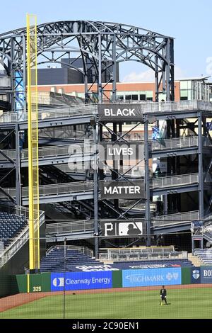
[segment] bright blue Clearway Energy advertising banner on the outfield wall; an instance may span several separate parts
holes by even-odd
[[[52,273],[51,290],[112,288],[112,271]]]

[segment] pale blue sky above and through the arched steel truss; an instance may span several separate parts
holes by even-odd
[[[0,33],[25,26],[26,13],[37,24],[52,21],[111,21],[175,38],[175,77],[212,76],[211,0],[11,0],[1,3]],[[121,81],[151,81],[153,71],[125,62]],[[212,81],[212,78],[210,79]]]

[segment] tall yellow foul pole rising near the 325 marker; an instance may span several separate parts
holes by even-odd
[[[30,270],[40,268],[39,169],[37,124],[37,17],[27,15],[28,179]],[[33,86],[33,92],[32,92]]]

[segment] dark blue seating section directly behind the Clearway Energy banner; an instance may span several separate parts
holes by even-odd
[[[77,249],[66,249],[66,271],[75,271],[74,266],[102,265],[90,256],[86,256]],[[40,261],[40,272],[62,272],[64,271],[64,249],[54,247]]]

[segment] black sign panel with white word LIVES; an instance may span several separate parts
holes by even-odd
[[[144,159],[144,145],[140,142],[100,142],[98,150],[100,161]]]

